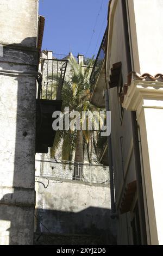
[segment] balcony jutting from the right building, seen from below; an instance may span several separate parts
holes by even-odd
[[[90,82],[92,84],[92,94],[90,102],[98,107],[105,108],[105,101],[103,92],[105,86],[105,56],[106,56],[106,42],[107,42],[107,29],[103,36],[101,46],[99,48],[95,64],[93,66]]]

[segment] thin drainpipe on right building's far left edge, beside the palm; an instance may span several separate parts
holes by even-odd
[[[108,90],[105,90],[105,107],[106,111],[109,110],[109,95]],[[107,137],[108,139],[108,157],[109,157],[109,175],[110,175],[110,197],[111,197],[111,218],[117,217],[115,208],[115,196],[114,196],[114,173],[112,163],[112,147],[111,147],[111,134]]]

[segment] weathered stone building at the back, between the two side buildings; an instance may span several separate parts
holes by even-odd
[[[42,51],[40,71],[44,97],[46,88],[52,92],[56,86],[53,76],[59,76],[63,63],[69,58],[75,58],[85,67],[85,58],[80,54],[74,57],[72,53],[62,56]],[[65,80],[71,76],[71,64],[67,62]],[[50,98],[55,95],[53,92]],[[109,167],[99,164],[95,153],[92,164],[86,154],[83,163],[62,161],[61,151],[59,148],[55,159],[51,159],[50,148],[48,153],[35,157],[35,244],[116,244],[116,220],[110,218]]]

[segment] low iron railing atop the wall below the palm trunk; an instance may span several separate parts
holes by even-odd
[[[36,160],[36,162],[40,162],[40,176],[83,181],[89,182],[89,184],[109,184],[109,167],[102,164],[57,161],[54,159]]]

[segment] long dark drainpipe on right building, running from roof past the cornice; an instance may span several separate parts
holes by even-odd
[[[129,44],[129,32],[128,32],[129,28],[128,28],[128,21],[127,21],[126,1],[122,1],[122,12],[123,12],[123,22],[124,22],[124,34],[125,34],[125,40],[126,40],[127,67],[128,67],[128,74],[129,74],[129,72],[132,71],[132,65],[131,65],[131,52],[130,52],[130,44]],[[142,242],[142,245],[147,245],[145,206],[144,206],[144,199],[143,199],[143,186],[142,186],[141,161],[140,161],[140,149],[139,149],[139,136],[138,136],[138,129],[137,129],[138,125],[137,125],[135,111],[131,111],[131,122],[132,122],[132,129],[133,129],[133,144],[134,144],[135,169],[136,169],[137,194],[138,194],[137,201],[139,205],[141,242]]]

